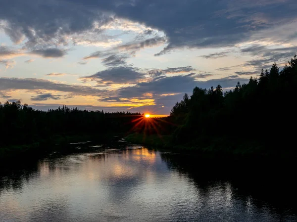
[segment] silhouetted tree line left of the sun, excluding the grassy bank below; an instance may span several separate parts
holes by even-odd
[[[67,106],[35,110],[20,101],[0,103],[1,143],[23,145],[48,140],[56,135],[120,133],[131,129],[141,113],[79,110]]]

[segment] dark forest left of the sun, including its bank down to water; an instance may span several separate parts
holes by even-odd
[[[140,113],[70,109],[34,110],[20,101],[0,104],[0,159],[31,153],[38,155],[50,146],[69,142],[106,142],[124,135]],[[62,146],[61,146],[62,147]],[[65,147],[67,148],[67,147]]]

